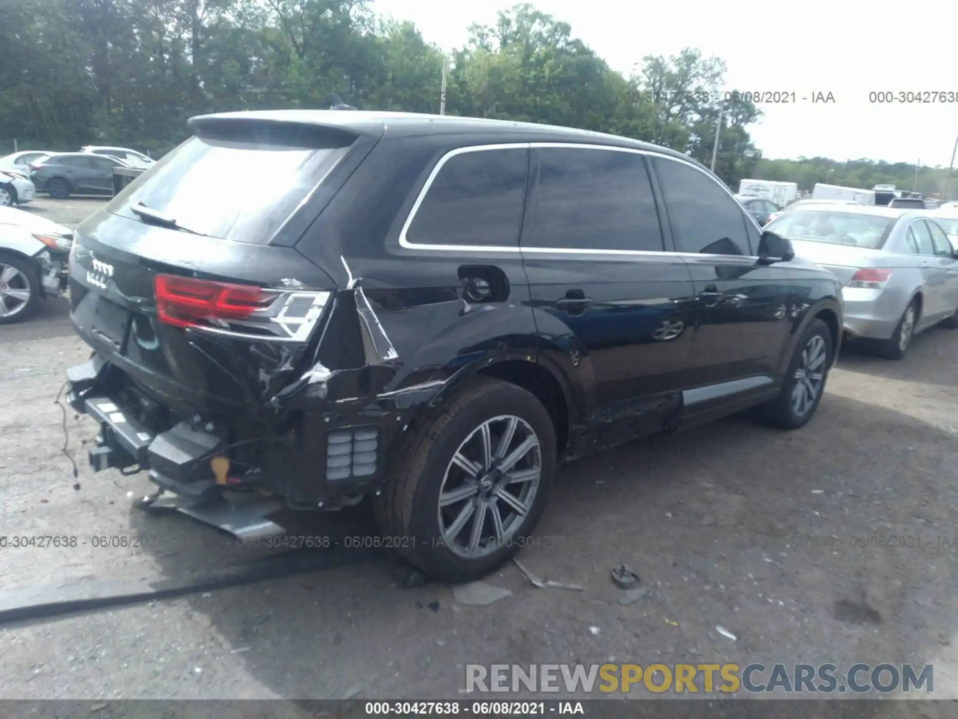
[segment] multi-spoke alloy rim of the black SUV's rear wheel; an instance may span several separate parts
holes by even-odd
[[[536,431],[514,415],[473,429],[452,455],[439,490],[445,546],[477,559],[509,545],[532,510],[542,478]]]

